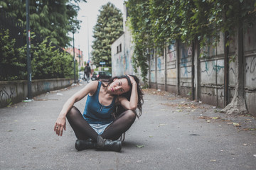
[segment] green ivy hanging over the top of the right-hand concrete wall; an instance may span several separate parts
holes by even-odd
[[[255,6],[256,0],[128,0],[134,67],[141,68],[146,80],[150,49],[162,51],[173,40],[199,42],[205,56],[203,47],[217,45],[220,31],[231,36],[239,26],[252,26]]]

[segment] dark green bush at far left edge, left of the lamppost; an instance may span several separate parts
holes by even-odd
[[[26,56],[19,55],[15,40],[10,38],[9,30],[0,30],[0,80],[9,81],[26,77]]]

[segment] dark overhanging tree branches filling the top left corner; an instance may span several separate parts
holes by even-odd
[[[30,0],[31,31],[49,40],[56,45],[65,47],[69,45],[69,32],[80,28],[76,19],[78,16],[78,2],[85,0]],[[9,16],[26,24],[26,0],[0,1],[0,7]]]

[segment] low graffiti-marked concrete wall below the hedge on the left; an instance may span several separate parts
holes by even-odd
[[[73,79],[41,79],[32,80],[32,96],[48,91],[63,89],[73,84]],[[28,96],[27,81],[0,81],[0,108],[9,103],[18,103]]]

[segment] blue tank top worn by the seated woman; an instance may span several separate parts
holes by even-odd
[[[111,123],[114,120],[112,113],[116,108],[115,99],[117,98],[117,96],[114,96],[113,101],[109,106],[103,106],[102,104],[100,104],[99,94],[101,84],[102,82],[99,81],[97,91],[95,91],[95,94],[93,94],[93,96],[87,95],[85,111],[82,114],[87,123],[105,125],[107,123]]]

